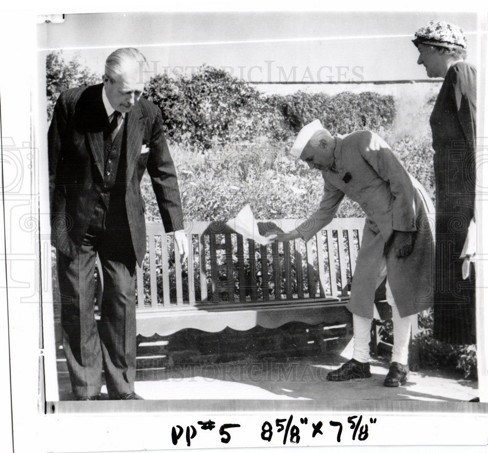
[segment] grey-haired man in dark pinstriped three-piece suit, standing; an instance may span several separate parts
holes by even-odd
[[[48,133],[51,230],[61,325],[77,400],[142,399],[136,373],[135,266],[146,251],[140,182],[147,168],[166,232],[188,250],[175,168],[160,109],[142,98],[147,62],[134,48],[106,59],[99,85],[61,93]],[[94,318],[95,260],[103,275]]]

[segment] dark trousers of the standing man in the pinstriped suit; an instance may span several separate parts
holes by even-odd
[[[102,263],[101,319],[95,320],[95,265]],[[57,256],[62,344],[75,396],[134,391],[136,374],[135,265],[123,195],[97,203],[74,259]]]

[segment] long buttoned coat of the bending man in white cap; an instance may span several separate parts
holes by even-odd
[[[322,172],[324,196],[319,209],[297,230],[312,238],[334,217],[345,195],[366,214],[362,244],[352,278],[348,309],[372,317],[378,275],[386,259],[391,292],[402,317],[432,305],[433,205],[422,185],[378,135],[357,131],[338,136],[336,171]],[[347,182],[346,182],[347,181]],[[414,246],[405,258],[391,250],[393,232],[412,232]]]

